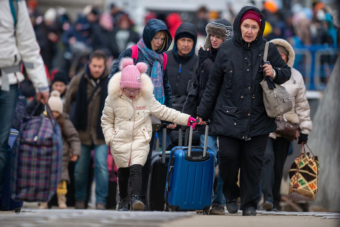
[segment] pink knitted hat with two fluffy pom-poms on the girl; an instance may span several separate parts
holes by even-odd
[[[148,65],[144,62],[133,64],[132,58],[123,58],[119,65],[122,75],[120,78],[120,87],[123,88],[142,88],[142,73],[148,70]]]

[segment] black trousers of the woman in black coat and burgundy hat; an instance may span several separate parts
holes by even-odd
[[[252,136],[245,141],[229,136],[218,136],[219,170],[226,200],[241,197],[241,210],[257,209],[260,197],[260,175],[269,134]],[[237,185],[240,169],[240,187]]]

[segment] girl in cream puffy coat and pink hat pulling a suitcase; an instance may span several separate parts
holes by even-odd
[[[144,210],[140,200],[142,166],[147,160],[152,135],[151,114],[161,120],[190,126],[195,119],[160,104],[154,86],[145,74],[148,66],[124,58],[120,70],[108,83],[108,96],[101,117],[105,142],[118,167],[118,211],[128,210],[128,182],[131,179],[131,208]],[[193,127],[196,123],[193,123]]]

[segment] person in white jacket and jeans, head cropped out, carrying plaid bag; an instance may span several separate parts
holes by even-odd
[[[49,98],[40,48],[36,41],[26,1],[0,1],[0,187],[8,155],[8,134],[19,96],[20,82],[24,80],[21,62],[33,82],[37,100],[43,104]],[[1,197],[2,188],[0,188]]]

